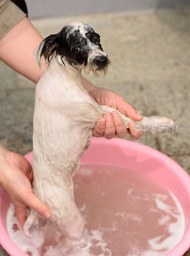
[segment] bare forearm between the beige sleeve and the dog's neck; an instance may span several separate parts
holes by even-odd
[[[0,40],[0,59],[37,83],[44,71],[33,60],[33,51],[42,40],[43,37],[25,17]]]

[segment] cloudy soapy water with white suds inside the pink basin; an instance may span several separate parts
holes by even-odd
[[[139,172],[85,164],[74,177],[75,202],[85,220],[81,241],[70,241],[42,220],[31,237],[11,204],[7,232],[29,256],[164,256],[182,239],[183,210],[170,190]]]

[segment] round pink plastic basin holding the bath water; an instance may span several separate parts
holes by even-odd
[[[32,152],[25,156],[32,162]],[[92,138],[81,163],[109,163],[137,170],[168,187],[178,198],[185,215],[185,234],[167,256],[181,256],[190,247],[190,177],[176,162],[161,152],[129,140]],[[27,256],[6,232],[6,214],[10,200],[0,187],[0,244],[11,256]]]

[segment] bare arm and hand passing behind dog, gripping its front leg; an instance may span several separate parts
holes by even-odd
[[[46,66],[42,67],[43,70],[39,69],[33,60],[33,51],[42,41],[43,37],[25,17],[0,40],[0,59],[21,75],[37,83]],[[96,87],[85,78],[82,78],[82,84],[99,104],[116,107],[133,120],[143,118],[117,93]],[[123,138],[129,132],[133,139],[138,140],[142,136],[142,132],[135,132],[134,125],[135,123],[131,122],[129,130],[127,130],[120,116],[115,118],[114,113],[108,113],[96,124],[93,136],[104,136],[111,139],[116,134]]]

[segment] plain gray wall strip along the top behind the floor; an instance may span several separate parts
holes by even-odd
[[[190,0],[25,0],[29,18],[190,6]]]

